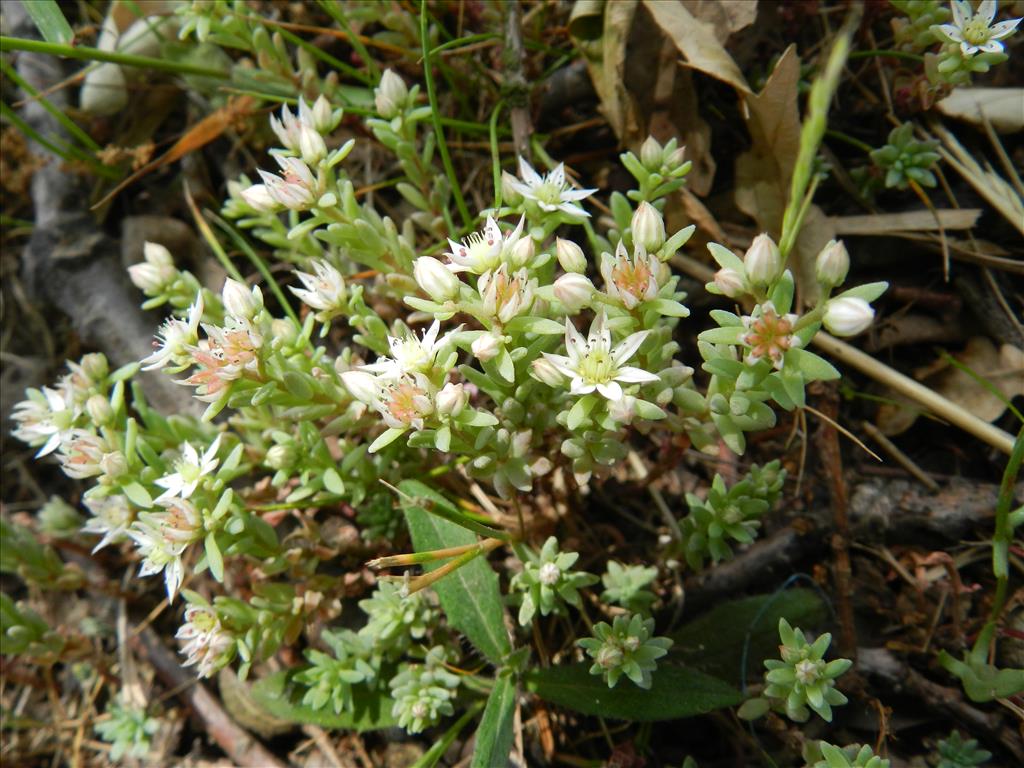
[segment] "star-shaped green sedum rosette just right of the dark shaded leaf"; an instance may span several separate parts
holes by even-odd
[[[771,709],[803,723],[813,711],[822,720],[831,722],[831,708],[847,702],[846,696],[836,690],[836,679],[853,663],[848,658],[824,660],[831,643],[828,633],[809,643],[802,630],[780,618],[778,634],[782,640],[781,658],[765,660],[764,691],[743,705],[740,716],[753,719]]]

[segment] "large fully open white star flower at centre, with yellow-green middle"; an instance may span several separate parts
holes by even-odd
[[[565,350],[568,355],[544,352],[545,358],[571,380],[571,394],[590,394],[596,389],[609,400],[617,400],[623,396],[621,383],[642,384],[658,380],[652,373],[623,365],[636,353],[649,332],[631,334],[612,348],[611,332],[605,327],[606,322],[604,312],[598,314],[590,327],[590,334],[584,339],[566,317]]]

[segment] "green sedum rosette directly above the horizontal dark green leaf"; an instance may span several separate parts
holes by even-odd
[[[623,675],[641,688],[649,688],[656,659],[672,646],[670,638],[651,637],[653,632],[653,618],[634,613],[615,616],[610,626],[605,622],[596,624],[594,636],[578,644],[594,659],[590,674],[603,677],[609,688],[614,688]]]

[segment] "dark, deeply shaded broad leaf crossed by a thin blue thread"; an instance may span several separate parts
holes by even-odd
[[[810,628],[824,621],[825,608],[807,589],[732,600],[674,632],[670,654],[687,667],[739,684],[746,675],[760,675],[764,659],[777,653],[779,618]],[[740,667],[748,637],[744,674]]]

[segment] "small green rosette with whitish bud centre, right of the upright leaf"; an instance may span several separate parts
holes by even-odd
[[[549,537],[540,553],[527,552],[523,568],[512,577],[511,590],[519,596],[519,624],[527,626],[534,615],[564,611],[564,604],[580,606],[580,590],[597,581],[586,571],[573,571],[578,552],[559,552],[558,540]]]

